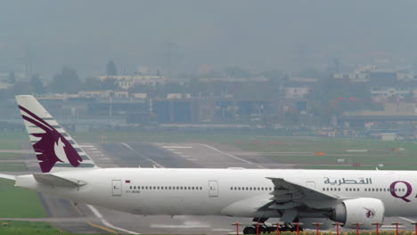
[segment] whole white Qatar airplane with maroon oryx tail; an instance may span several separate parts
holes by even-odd
[[[297,222],[371,229],[386,216],[417,215],[415,171],[100,168],[33,96],[16,101],[42,170],[0,174],[17,187],[139,215],[280,218],[282,231]]]

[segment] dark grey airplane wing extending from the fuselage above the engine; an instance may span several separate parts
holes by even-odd
[[[266,205],[269,209],[294,209],[296,207],[310,207],[322,209],[331,207],[338,201],[338,197],[324,193],[315,189],[308,188],[297,182],[290,182],[282,178],[267,179],[274,182],[274,191],[271,192],[274,197],[272,202]]]

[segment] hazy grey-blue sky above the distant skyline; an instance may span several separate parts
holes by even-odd
[[[0,71],[19,70],[30,46],[35,72],[68,65],[104,71],[241,66],[321,68],[417,61],[417,1],[2,1]],[[170,48],[170,50],[169,50]],[[168,52],[171,53],[168,53]]]

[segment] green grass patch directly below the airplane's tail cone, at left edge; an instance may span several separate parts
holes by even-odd
[[[41,218],[46,212],[37,193],[13,186],[14,182],[0,180],[0,217]],[[0,234],[3,234],[0,232]]]

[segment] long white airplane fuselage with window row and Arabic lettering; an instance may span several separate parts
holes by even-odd
[[[279,212],[258,211],[272,198],[274,183],[267,179],[272,177],[339,199],[380,199],[385,216],[417,214],[413,171],[105,168],[53,174],[86,184],[50,186],[30,174],[18,176],[16,185],[140,215],[280,217]]]

